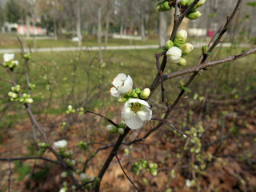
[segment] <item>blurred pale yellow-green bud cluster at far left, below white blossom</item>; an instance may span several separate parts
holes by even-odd
[[[21,91],[21,86],[16,85],[11,87],[11,91],[8,93],[11,102],[22,102],[22,103],[32,103],[33,99],[30,98],[30,94],[19,94]]]

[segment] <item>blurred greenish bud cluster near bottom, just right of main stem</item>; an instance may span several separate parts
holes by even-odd
[[[150,174],[153,176],[157,176],[158,174],[158,164],[157,163],[148,163],[145,159],[142,159],[138,162],[134,162],[134,164],[131,166],[131,172],[138,175],[139,172],[142,170],[142,168],[145,168]]]

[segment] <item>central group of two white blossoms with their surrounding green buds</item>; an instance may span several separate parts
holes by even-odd
[[[110,87],[110,94],[118,98],[118,102],[125,102],[122,110],[122,118],[125,119],[126,125],[130,129],[138,129],[143,126],[144,122],[152,118],[152,111],[145,99],[150,97],[150,89],[140,90],[133,89],[133,80],[130,75],[118,74],[113,81],[113,86]],[[110,133],[117,133],[119,127],[108,126],[107,130]],[[123,134],[120,130],[119,134]]]

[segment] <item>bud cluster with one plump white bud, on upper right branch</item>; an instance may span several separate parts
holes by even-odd
[[[175,63],[179,66],[186,65],[185,55],[190,54],[194,50],[194,46],[189,42],[186,42],[187,32],[186,30],[180,30],[174,38],[174,42],[168,40],[166,45],[162,47],[166,51],[167,62]]]

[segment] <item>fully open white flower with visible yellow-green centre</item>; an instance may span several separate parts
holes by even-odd
[[[143,122],[152,118],[152,111],[146,101],[130,98],[122,110],[122,118],[125,119],[130,129],[136,130],[143,126]]]

